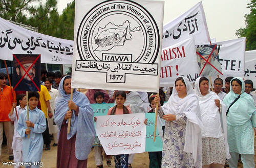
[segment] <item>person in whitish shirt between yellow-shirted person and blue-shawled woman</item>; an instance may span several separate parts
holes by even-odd
[[[50,106],[51,106],[52,114],[54,115],[55,99],[57,97],[58,90],[52,88],[52,82],[53,82],[52,78],[46,78],[45,86],[47,87],[51,96]],[[53,147],[55,147],[57,146],[57,143],[58,143],[58,126],[54,124],[53,117],[52,118],[48,117],[48,126],[49,126],[49,133],[53,134],[53,140],[54,140]]]

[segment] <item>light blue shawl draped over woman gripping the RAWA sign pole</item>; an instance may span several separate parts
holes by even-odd
[[[61,129],[61,125],[65,114],[69,111],[68,101],[70,94],[66,94],[63,89],[63,82],[68,76],[61,79],[59,83],[59,93],[61,97],[56,98],[56,109],[54,121]],[[70,133],[67,134],[67,139],[70,139],[76,134],[75,154],[79,160],[87,159],[91,152],[91,147],[95,138],[95,129],[93,122],[93,109],[87,97],[74,89],[72,101],[79,107],[78,116],[73,111],[71,117]],[[68,121],[67,121],[68,123]]]

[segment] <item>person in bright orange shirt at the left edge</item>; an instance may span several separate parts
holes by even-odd
[[[13,160],[12,138],[14,127],[8,117],[8,114],[11,111],[12,103],[16,100],[16,95],[15,92],[12,91],[11,87],[7,86],[6,83],[7,75],[0,73],[0,156],[2,153],[3,130],[5,130],[9,160]]]

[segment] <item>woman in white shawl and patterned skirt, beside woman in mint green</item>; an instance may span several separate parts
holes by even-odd
[[[230,158],[227,138],[224,138],[223,134],[223,130],[226,133],[226,106],[215,92],[210,91],[209,80],[205,77],[196,80],[195,91],[204,125],[201,130],[203,168],[224,167],[226,158]],[[220,113],[223,115],[221,116]]]

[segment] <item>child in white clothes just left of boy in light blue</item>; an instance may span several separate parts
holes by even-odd
[[[9,113],[9,118],[11,119],[12,122],[14,122],[14,134],[13,134],[13,140],[12,140],[12,149],[13,149],[13,157],[14,157],[14,162],[22,162],[23,157],[22,157],[22,137],[18,134],[17,132],[17,123],[18,123],[18,118],[20,113],[22,111],[26,110],[26,95],[25,94],[18,94],[16,97],[17,100],[17,107],[16,103],[12,104],[12,109]],[[14,111],[14,108],[16,107],[17,111]],[[16,114],[17,112],[17,114]],[[19,165],[14,165],[14,168],[16,167],[21,167]]]

